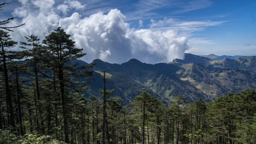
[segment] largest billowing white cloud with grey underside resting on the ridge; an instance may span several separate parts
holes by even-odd
[[[76,46],[84,48],[86,61],[100,58],[108,62],[126,62],[136,58],[142,62],[170,62],[183,58],[188,44],[173,30],[166,32],[133,30],[124,22],[120,10],[108,14],[97,13],[81,18],[78,13],[60,19],[59,25],[71,34]]]

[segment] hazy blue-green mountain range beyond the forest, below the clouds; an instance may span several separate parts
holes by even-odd
[[[80,64],[87,64],[81,60]],[[85,96],[99,96],[103,80],[102,70],[107,72],[107,89],[115,89],[112,96],[121,97],[125,103],[146,91],[162,102],[182,95],[193,102],[203,98],[206,102],[228,92],[239,92],[245,88],[256,88],[256,56],[213,60],[204,56],[185,54],[184,60],[170,63],[146,64],[131,59],[123,64],[110,64],[96,59],[94,80],[89,84],[90,92]]]

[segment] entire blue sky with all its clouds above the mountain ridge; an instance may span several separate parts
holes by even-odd
[[[26,42],[64,28],[81,60],[155,64],[196,55],[256,55],[255,0],[5,0],[0,19]],[[19,44],[16,46],[19,49]]]

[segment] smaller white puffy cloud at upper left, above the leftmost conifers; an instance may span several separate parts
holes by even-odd
[[[26,41],[24,36],[34,34],[42,39],[56,29],[60,16],[54,12],[54,3],[54,0],[23,2],[22,7],[14,10],[13,15],[22,18],[21,22],[16,22],[16,25],[20,23],[25,25],[17,28],[15,34],[11,35],[12,38],[18,42]]]

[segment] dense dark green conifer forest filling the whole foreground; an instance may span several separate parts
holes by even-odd
[[[89,91],[95,64],[70,62],[85,54],[64,29],[58,27],[42,42],[26,36],[22,50],[15,51],[18,42],[8,33],[12,29],[1,28],[0,143],[256,143],[256,90],[228,93],[208,103],[188,103],[178,96],[169,106],[142,92],[124,104],[111,97],[115,91],[107,89],[102,70],[102,90],[85,98],[81,92]]]

